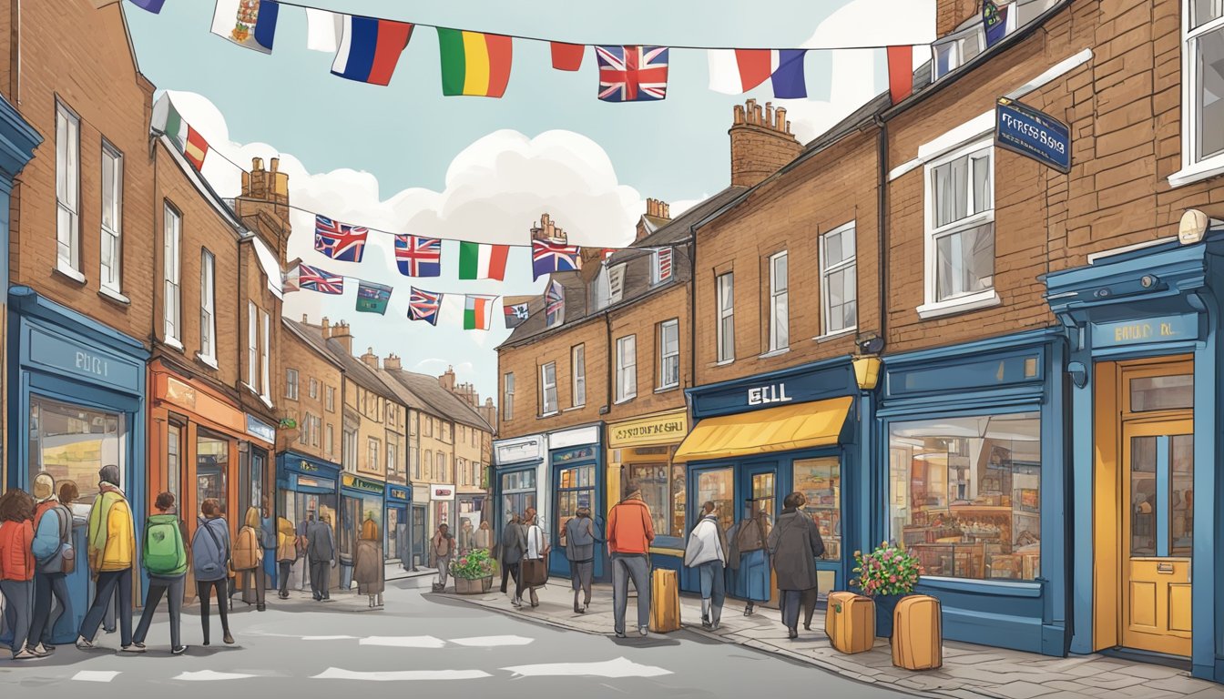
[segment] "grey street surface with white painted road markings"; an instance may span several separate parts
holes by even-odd
[[[558,629],[397,585],[403,583],[388,584],[382,611],[367,611],[364,596],[341,594],[328,605],[269,600],[263,613],[235,602],[234,646],[201,646],[198,607],[192,606],[184,617],[191,645],[185,656],[169,655],[162,615],[143,656],[115,654],[118,635],[103,634],[104,650],[61,646],[40,661],[0,661],[0,683],[94,698],[153,692],[215,699],[231,690],[334,697],[354,688],[364,698],[476,692],[498,698],[756,697],[766,689],[906,695],[688,632],[617,640],[611,629],[607,637]]]

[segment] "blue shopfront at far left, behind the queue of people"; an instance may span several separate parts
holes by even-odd
[[[75,481],[73,541],[86,548],[86,518],[98,495],[98,470],[120,468],[133,510],[144,508],[146,361],[140,340],[102,326],[27,286],[9,290],[7,486],[31,490],[39,473]],[[143,519],[136,518],[136,541]],[[138,552],[137,552],[138,555]],[[143,583],[133,595],[142,599]],[[55,643],[71,643],[91,594],[89,572],[69,577],[72,615],[60,617]]]

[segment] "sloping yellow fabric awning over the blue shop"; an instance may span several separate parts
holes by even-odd
[[[847,395],[706,417],[684,438],[673,460],[731,459],[836,444],[852,400]]]

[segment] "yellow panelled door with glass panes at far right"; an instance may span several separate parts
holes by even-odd
[[[1122,427],[1121,645],[1190,655],[1193,422]]]

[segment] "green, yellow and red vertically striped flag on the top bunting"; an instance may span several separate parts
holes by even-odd
[[[438,27],[442,94],[502,97],[510,80],[510,37]]]

